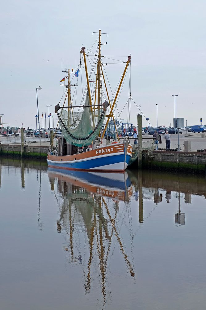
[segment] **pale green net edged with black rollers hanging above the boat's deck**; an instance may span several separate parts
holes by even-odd
[[[90,145],[101,131],[108,105],[107,101],[103,103],[103,109],[100,109],[99,117],[94,118],[94,124],[88,95],[82,113],[74,113],[71,109],[69,110],[69,122],[68,110],[61,109],[61,113],[57,113],[57,115],[66,141],[79,147]]]

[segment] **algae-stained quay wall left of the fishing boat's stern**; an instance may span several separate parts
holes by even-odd
[[[29,145],[29,147],[24,146],[23,151],[21,152],[21,145],[1,144],[0,155],[7,157],[23,157],[46,160],[48,148],[48,146]]]

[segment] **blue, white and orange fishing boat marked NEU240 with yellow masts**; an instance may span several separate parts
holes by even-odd
[[[51,145],[49,148],[47,156],[49,167],[67,170],[124,172],[132,157],[132,145],[127,137],[120,142],[117,130],[114,141],[109,143],[107,140],[107,144],[103,144],[107,124],[111,118],[114,119],[113,109],[118,101],[131,56],[128,56],[128,60],[125,61],[126,66],[116,94],[112,94],[114,100],[111,104],[103,72],[101,44],[103,43],[101,43],[101,30],[99,30],[98,53],[94,55],[95,59],[91,68],[91,73],[95,72],[95,81],[92,81],[91,73],[88,74],[86,56],[89,55],[86,54],[85,47],[81,48],[82,60],[80,60],[78,68],[75,71],[65,71],[68,73],[65,77],[68,79],[65,101],[63,106],[60,106],[60,102],[55,106],[62,137],[57,138],[57,147]],[[73,86],[71,74],[78,77],[82,65],[84,65],[83,69],[86,74],[86,88],[81,101],[81,103],[84,102],[84,105],[74,105],[71,95],[71,86]],[[95,86],[90,86],[91,83],[94,83]],[[68,99],[68,106],[65,106],[66,99]],[[78,112],[75,112],[74,110],[77,108]],[[107,109],[110,111],[107,112]],[[102,130],[105,118],[107,118],[107,122]]]

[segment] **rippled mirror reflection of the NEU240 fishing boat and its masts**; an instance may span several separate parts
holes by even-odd
[[[95,274],[99,275],[105,303],[107,262],[116,244],[125,261],[125,273],[129,272],[135,278],[133,263],[118,229],[120,220],[123,224],[125,213],[130,208],[132,182],[127,172],[95,173],[48,168],[48,177],[60,207],[57,231],[64,234],[64,250],[68,252],[68,259],[73,263],[84,263],[87,292]],[[124,208],[120,210],[121,202]],[[130,246],[132,248],[132,244]]]

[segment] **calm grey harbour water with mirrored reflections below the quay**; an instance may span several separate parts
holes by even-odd
[[[206,179],[0,159],[0,309],[206,304]]]

